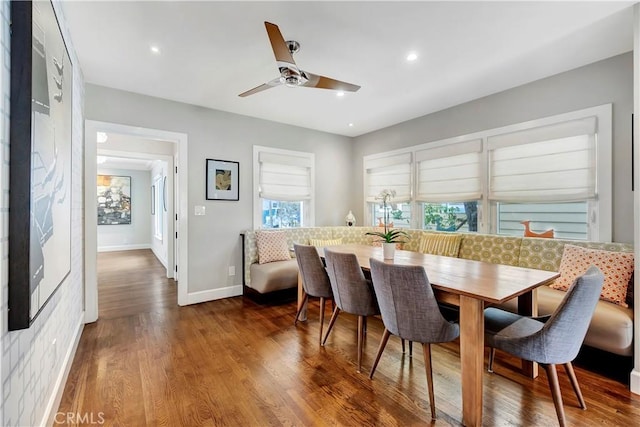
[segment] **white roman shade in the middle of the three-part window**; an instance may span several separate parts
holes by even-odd
[[[482,198],[482,140],[416,152],[421,202],[466,202]]]

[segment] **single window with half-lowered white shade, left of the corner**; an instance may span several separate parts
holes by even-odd
[[[254,146],[254,227],[313,226],[314,155]]]

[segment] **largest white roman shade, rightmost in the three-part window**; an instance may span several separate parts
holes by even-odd
[[[572,202],[596,197],[596,118],[488,138],[489,199]]]

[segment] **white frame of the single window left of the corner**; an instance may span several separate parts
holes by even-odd
[[[253,228],[261,229],[262,227],[262,200],[260,196],[260,153],[277,154],[291,157],[302,157],[309,161],[309,179],[311,185],[311,195],[307,200],[275,200],[272,201],[299,201],[302,202],[302,212],[300,216],[300,227],[315,226],[315,154],[305,151],[286,150],[282,148],[265,147],[260,145],[253,146]]]

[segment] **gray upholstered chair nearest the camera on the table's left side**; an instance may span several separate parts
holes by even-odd
[[[409,342],[422,343],[431,418],[435,419],[431,343],[456,339],[460,335],[460,327],[442,316],[423,267],[387,264],[373,258],[369,263],[384,323],[384,333],[369,378],[373,378],[389,335],[397,335]]]

